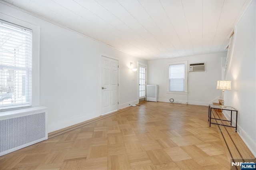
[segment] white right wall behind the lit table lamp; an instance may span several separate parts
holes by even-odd
[[[234,50],[226,75],[226,80],[232,81],[232,90],[225,92],[225,103],[238,110],[240,136],[254,152],[254,156],[256,156],[255,11],[254,0],[235,27]]]

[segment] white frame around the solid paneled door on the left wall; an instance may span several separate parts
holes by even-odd
[[[118,57],[113,57],[112,55],[108,55],[108,54],[104,54],[104,53],[100,53],[99,55],[99,116],[102,116],[102,115],[107,115],[109,113],[102,113],[102,57],[107,57],[107,58],[110,58],[110,59],[115,59],[118,61],[118,84],[120,84],[120,73],[119,73],[119,59]],[[117,88],[117,93],[118,93],[118,102],[120,101],[120,93],[119,93],[119,85],[118,85],[118,88]],[[119,110],[119,103],[117,104],[117,109]],[[116,111],[116,110],[115,110]],[[111,111],[111,112],[114,112],[114,111]]]

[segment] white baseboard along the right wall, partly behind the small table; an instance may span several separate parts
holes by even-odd
[[[227,120],[230,120],[230,113],[227,111],[222,112]],[[232,118],[235,117],[235,114],[232,115]],[[235,126],[236,119],[232,119],[232,126]],[[256,157],[256,142],[239,126],[237,125],[237,133],[242,138],[246,146],[250,149],[252,154]]]

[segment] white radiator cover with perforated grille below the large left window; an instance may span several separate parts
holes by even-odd
[[[47,107],[0,112],[0,156],[47,138]]]

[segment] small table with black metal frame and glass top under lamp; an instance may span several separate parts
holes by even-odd
[[[225,111],[230,111],[230,114],[231,114],[230,115],[230,121],[224,120],[224,119],[212,118],[212,109],[222,109],[222,110],[225,110]],[[236,126],[232,126],[232,112],[236,113]],[[233,127],[233,128],[236,128],[236,130],[237,130],[237,114],[238,114],[238,111],[236,109],[234,109],[233,107],[230,107],[230,106],[220,107],[219,105],[209,105],[208,121],[210,121],[210,127],[211,127],[211,124],[215,124],[215,125],[222,125],[222,126],[226,126],[226,127]],[[220,121],[227,121],[227,122],[230,122],[230,125],[223,125],[223,124],[219,124],[219,123],[212,123],[211,122],[212,119],[220,120]]]

